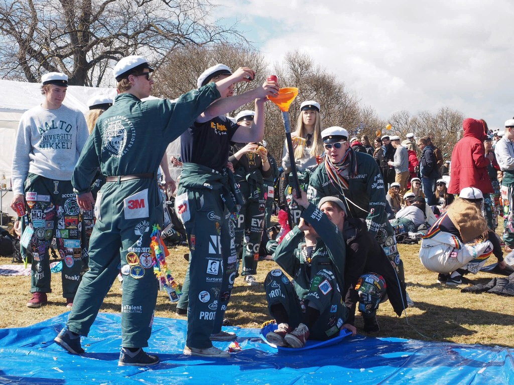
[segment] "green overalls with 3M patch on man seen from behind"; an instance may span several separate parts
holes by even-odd
[[[157,298],[150,234],[154,224],[162,225],[163,211],[157,180],[147,176],[155,176],[168,144],[218,98],[213,83],[174,102],[141,102],[132,94],[122,93],[100,115],[81,153],[72,184],[78,194],[89,191],[98,167],[103,175],[118,180],[105,183],[98,192],[97,221],[89,242],[89,271],[82,278],[69,315],[70,331],[88,334],[121,268],[122,346],[148,346]],[[137,175],[143,176],[120,181],[122,176]]]

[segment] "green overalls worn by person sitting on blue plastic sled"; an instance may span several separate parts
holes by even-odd
[[[326,340],[335,337],[346,322],[348,310],[343,304],[346,247],[339,229],[314,204],[302,213],[323,238],[308,256],[303,232],[296,226],[278,245],[273,260],[295,280],[291,284],[280,269],[272,270],[265,280],[266,299],[271,306],[280,303],[289,316],[289,326],[305,322],[300,300],[319,310],[320,318],[310,330],[310,338]],[[271,314],[272,315],[272,314]],[[273,316],[273,315],[272,315]]]

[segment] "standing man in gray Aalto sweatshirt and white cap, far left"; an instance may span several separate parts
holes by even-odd
[[[47,303],[50,293],[48,249],[52,238],[63,259],[62,287],[71,307],[80,283],[83,248],[79,223],[82,218],[71,176],[87,140],[81,111],[63,104],[68,76],[50,72],[42,76],[43,102],[24,112],[16,134],[12,159],[11,207],[27,209],[33,236],[27,247],[32,259],[32,298],[28,307]],[[23,223],[23,230],[25,224]]]

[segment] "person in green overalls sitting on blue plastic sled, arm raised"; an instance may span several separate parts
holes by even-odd
[[[327,340],[347,328],[348,309],[343,304],[345,246],[341,234],[344,203],[334,197],[320,200],[318,207],[309,203],[301,191],[295,197],[305,210],[295,226],[278,245],[273,260],[295,280],[291,282],[281,269],[268,273],[266,299],[278,329],[266,335],[277,346],[303,348],[308,338]]]

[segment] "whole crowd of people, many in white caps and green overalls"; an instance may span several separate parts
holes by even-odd
[[[397,247],[406,236],[421,240],[420,261],[440,283],[463,283],[491,254],[505,268],[501,243],[506,251],[514,248],[514,120],[494,139],[485,121],[464,120],[463,138],[445,161],[432,138],[413,133],[403,140],[383,135],[374,146],[366,135],[348,139],[343,127],[325,128],[322,106],[308,100],[292,132],[293,153],[284,145],[278,163],[263,139],[265,104],[278,82],[235,95],[234,84],[250,82],[255,73],[217,64],[198,76],[197,89],[174,101],[142,101],[151,94],[153,71],[142,56],[120,60],[113,73],[118,96],[91,99],[87,120],[63,104],[67,76],[45,74],[43,103],[20,121],[12,207],[27,213],[27,306],[47,302],[55,238],[71,310],[55,341],[69,353],[84,353],[81,336],[120,274],[118,363],[159,362],[143,348],[158,290],[154,234],[172,222],[163,202],[174,190],[173,213],[190,251],[177,305],[177,313],[187,314],[185,355],[229,356],[212,341],[236,338],[222,330],[234,281],[241,275],[258,286],[263,258],[280,267],[262,282],[277,323],[266,339],[292,348],[309,338],[334,338],[342,328],[356,334],[357,310],[364,332],[378,332],[383,301],[398,316],[414,306]],[[254,110],[227,116],[249,102]],[[173,181],[166,148],[177,138],[180,157],[170,161],[181,174]],[[268,232],[274,206],[287,218],[276,237]],[[494,233],[499,217],[505,218],[503,241]]]

